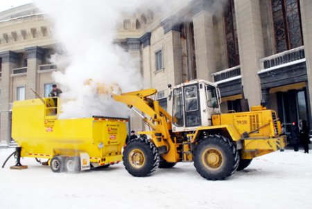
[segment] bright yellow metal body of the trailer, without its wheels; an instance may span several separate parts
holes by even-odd
[[[49,99],[44,100],[49,102]],[[118,161],[121,160],[121,149],[127,136],[125,120],[58,120],[46,116],[45,108],[39,99],[14,102],[12,138],[22,147],[21,156],[51,158],[55,154],[71,156],[87,152],[94,158],[118,156]]]

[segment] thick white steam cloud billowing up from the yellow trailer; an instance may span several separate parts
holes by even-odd
[[[142,5],[164,14],[178,10],[189,0],[37,0],[36,5],[53,21],[53,37],[64,48],[56,55],[56,64],[66,66],[55,73],[55,82],[63,93],[60,118],[94,115],[126,116],[124,104],[115,102],[110,91],[137,91],[142,78],[128,53],[113,44],[122,12],[135,12]],[[111,89],[111,86],[114,89]],[[98,93],[98,90],[100,92]],[[105,91],[105,93],[103,93]],[[108,93],[107,93],[108,92]]]

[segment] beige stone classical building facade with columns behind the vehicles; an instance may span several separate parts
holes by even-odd
[[[157,11],[123,14],[115,42],[137,60],[144,88],[158,89],[167,106],[168,84],[196,78],[218,84],[223,112],[266,102],[290,131],[311,125],[312,1],[193,0],[167,17]],[[1,138],[10,140],[11,104],[45,96],[53,83],[51,22],[33,5],[0,13]],[[24,89],[23,89],[24,88]],[[131,127],[144,129],[138,118]]]

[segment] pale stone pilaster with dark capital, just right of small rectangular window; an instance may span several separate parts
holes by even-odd
[[[182,41],[180,24],[175,17],[169,17],[162,21],[164,28],[164,68],[168,73],[169,84],[182,83]]]

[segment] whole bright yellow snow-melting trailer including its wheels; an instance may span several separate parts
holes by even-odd
[[[78,172],[122,160],[125,118],[58,119],[58,98],[15,101],[12,138],[17,157],[47,158],[53,172]],[[17,163],[20,165],[20,163]]]

